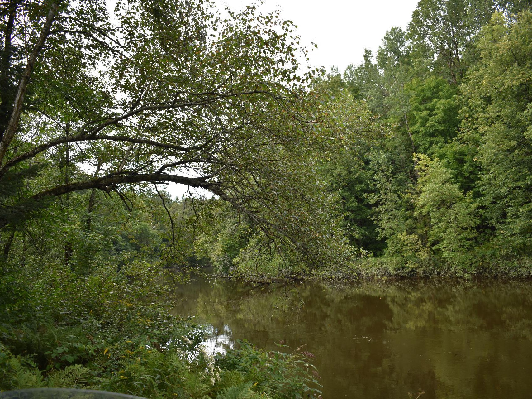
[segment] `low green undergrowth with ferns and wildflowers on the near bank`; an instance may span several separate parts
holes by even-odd
[[[246,389],[254,397],[318,392],[297,353],[272,354],[243,343],[215,360],[201,345],[201,328],[165,310],[169,304],[160,298],[168,287],[157,283],[161,275],[153,266],[104,266],[85,277],[61,264],[50,267],[26,278],[23,300],[3,305],[1,390],[84,387],[203,398],[227,396],[250,381]],[[236,372],[232,364],[248,369]]]

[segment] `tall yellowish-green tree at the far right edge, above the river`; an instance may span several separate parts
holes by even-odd
[[[530,255],[532,16],[494,14],[479,39],[480,62],[464,86],[463,127],[479,143],[479,203],[499,256]]]

